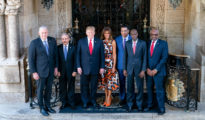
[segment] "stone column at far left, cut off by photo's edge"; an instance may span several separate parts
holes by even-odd
[[[0,61],[6,58],[6,37],[5,37],[5,22],[4,22],[4,11],[5,2],[0,0]]]

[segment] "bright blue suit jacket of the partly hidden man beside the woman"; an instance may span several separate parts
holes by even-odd
[[[132,38],[129,35],[128,41],[131,39]],[[116,44],[117,44],[117,68],[123,69],[123,56],[124,56],[123,38],[120,35],[115,40],[116,40]]]

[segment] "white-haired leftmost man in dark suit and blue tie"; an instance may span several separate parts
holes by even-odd
[[[29,67],[37,81],[37,97],[40,113],[48,116],[55,113],[50,106],[54,74],[58,74],[58,55],[56,40],[48,37],[45,26],[39,28],[40,38],[33,40],[29,46]]]

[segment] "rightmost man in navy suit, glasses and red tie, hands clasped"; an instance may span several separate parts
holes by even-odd
[[[168,45],[166,41],[159,39],[159,31],[152,28],[150,31],[151,41],[148,43],[147,62],[147,108],[149,111],[153,106],[153,88],[156,87],[156,98],[158,103],[158,114],[165,113],[165,89],[164,77],[166,76],[166,63],[168,58]]]

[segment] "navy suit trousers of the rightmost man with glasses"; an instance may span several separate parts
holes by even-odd
[[[156,98],[158,103],[158,108],[165,108],[165,91],[164,91],[164,76],[148,76],[147,75],[147,106],[153,106],[153,92],[154,92],[154,85],[156,87]]]

